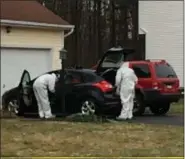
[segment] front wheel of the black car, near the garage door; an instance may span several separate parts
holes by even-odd
[[[7,109],[10,113],[13,113],[17,116],[21,116],[23,114],[20,108],[20,102],[17,98],[12,98],[7,102]]]

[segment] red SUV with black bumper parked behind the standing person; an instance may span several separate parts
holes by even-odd
[[[130,68],[138,77],[137,103],[149,106],[156,115],[166,114],[170,104],[181,96],[179,79],[172,66],[165,60],[130,61]],[[141,108],[143,111],[144,108]]]

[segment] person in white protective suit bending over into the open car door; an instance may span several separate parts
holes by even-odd
[[[40,118],[54,118],[52,115],[48,90],[55,92],[55,83],[58,80],[56,74],[44,74],[38,77],[33,84],[33,91],[37,100]]]

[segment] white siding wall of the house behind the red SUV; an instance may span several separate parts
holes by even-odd
[[[183,1],[139,1],[139,27],[147,31],[146,58],[166,59],[184,86]]]

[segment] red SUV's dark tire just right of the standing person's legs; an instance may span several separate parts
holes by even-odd
[[[143,96],[139,93],[139,94],[136,94],[136,97],[134,99],[133,115],[141,116],[144,113],[145,113],[145,104],[144,104]]]

